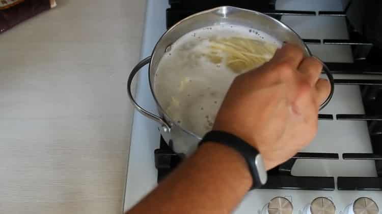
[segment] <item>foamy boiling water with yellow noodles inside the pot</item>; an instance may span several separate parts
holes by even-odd
[[[174,123],[202,137],[212,129],[233,79],[268,61],[280,46],[270,35],[242,26],[194,30],[159,61],[155,96]]]

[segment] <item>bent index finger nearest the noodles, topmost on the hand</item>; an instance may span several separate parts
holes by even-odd
[[[286,62],[293,68],[297,69],[298,65],[304,58],[304,52],[296,45],[285,43],[281,49],[278,49],[269,62]]]

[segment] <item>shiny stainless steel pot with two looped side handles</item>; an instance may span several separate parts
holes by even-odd
[[[159,130],[163,138],[165,138],[168,144],[177,153],[189,155],[190,153],[195,151],[198,142],[202,136],[197,136],[191,131],[183,129],[177,123],[173,122],[172,119],[165,113],[165,111],[163,111],[163,108],[159,105],[159,102],[156,99],[155,92],[153,90],[154,77],[158,63],[162,56],[165,54],[166,50],[169,47],[171,47],[171,44],[173,44],[180,37],[182,37],[182,35],[195,29],[221,23],[241,25],[261,30],[265,33],[268,33],[269,35],[271,35],[279,41],[285,41],[291,44],[298,45],[304,50],[306,56],[311,56],[308,47],[292,29],[290,29],[287,25],[274,18],[271,18],[267,15],[255,11],[225,6],[194,14],[175,24],[162,35],[162,37],[157,42],[151,56],[139,62],[132,69],[127,81],[127,92],[130,100],[132,101],[132,104],[140,113],[160,124]],[[138,73],[138,71],[147,63],[150,63],[148,72],[150,89],[158,107],[158,116],[143,109],[137,102],[135,102],[131,93],[132,79]],[[330,74],[328,67],[326,67],[324,64],[323,67],[324,72],[326,73],[328,79],[331,82],[332,88],[329,97],[321,105],[320,109],[322,109],[326,104],[328,104],[328,102],[332,98],[334,90],[333,77]]]

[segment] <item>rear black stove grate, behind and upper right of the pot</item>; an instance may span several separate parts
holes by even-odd
[[[246,5],[250,10],[257,10],[269,16],[272,16],[277,19],[281,19],[282,16],[341,16],[346,17],[346,10],[348,8],[345,7],[344,11],[290,11],[290,10],[275,10],[276,0],[274,1],[256,1],[256,3],[252,4],[243,4],[242,2],[248,1],[238,1],[233,3],[233,1],[207,4],[210,1],[204,1],[202,5],[207,5],[209,7],[195,7],[193,5],[184,6],[186,0],[184,1],[169,1],[171,8],[167,9],[167,28],[170,28],[175,23],[180,21],[181,19],[192,15],[194,13],[198,13],[203,11],[204,9],[209,9],[217,6],[230,5],[235,7],[240,7],[242,5]],[[212,1],[213,2],[213,1]],[[259,2],[261,4],[259,4]],[[264,4],[267,2],[268,4]],[[201,4],[201,3],[199,3]],[[182,5],[180,7],[179,5]],[[194,6],[194,7],[193,7]],[[372,43],[368,42],[362,34],[357,32],[352,25],[349,23],[346,18],[346,25],[349,32],[348,40],[339,40],[339,39],[323,39],[322,41],[319,39],[303,39],[306,44],[312,45],[350,45],[352,49],[352,53],[354,56],[354,62],[345,63],[345,62],[325,62],[326,65],[330,68],[332,73],[334,74],[382,74],[382,62],[379,60],[379,53],[382,53],[382,50],[373,46]]]

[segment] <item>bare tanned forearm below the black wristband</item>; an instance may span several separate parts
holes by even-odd
[[[127,213],[231,213],[251,186],[240,154],[208,143]]]

